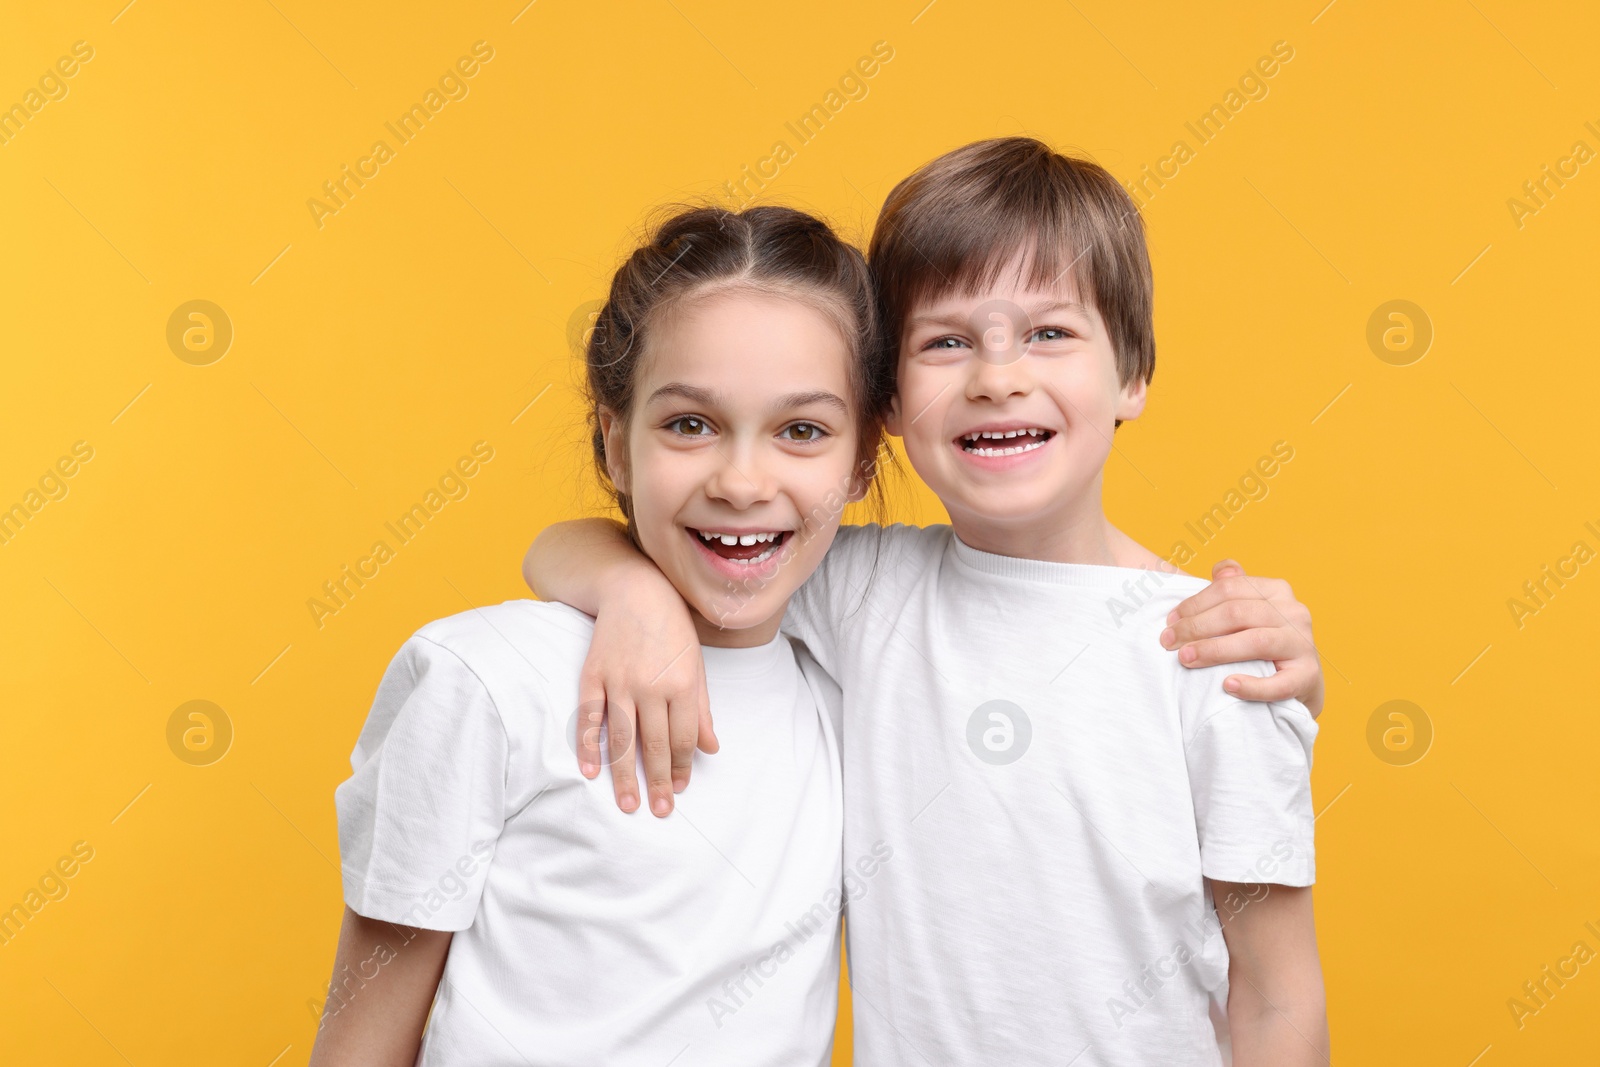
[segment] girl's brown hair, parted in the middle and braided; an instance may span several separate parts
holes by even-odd
[[[875,474],[893,366],[880,342],[877,302],[861,251],[827,222],[794,208],[688,208],[658,224],[618,269],[584,354],[595,466],[630,525],[632,504],[606,472],[600,410],[626,426],[653,328],[666,312],[722,290],[790,296],[834,318],[851,355],[856,474],[866,483]]]

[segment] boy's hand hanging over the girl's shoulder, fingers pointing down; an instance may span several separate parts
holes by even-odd
[[[659,574],[656,576],[659,577]],[[578,769],[595,777],[611,768],[611,789],[622,811],[638,809],[634,745],[645,757],[650,809],[672,811],[672,795],[690,784],[696,745],[717,750],[699,635],[683,598],[666,579],[659,605],[653,582],[632,582],[616,605],[602,601],[594,641],[578,678],[582,717]],[[606,752],[600,752],[598,713],[605,710]]]

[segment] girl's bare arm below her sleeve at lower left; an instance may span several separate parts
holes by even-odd
[[[450,931],[397,926],[346,905],[310,1067],[411,1067],[450,937]]]

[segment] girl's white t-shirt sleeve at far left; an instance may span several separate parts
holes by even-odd
[[[466,929],[506,824],[509,742],[483,681],[413,637],[395,654],[334,790],[344,902],[357,915]]]

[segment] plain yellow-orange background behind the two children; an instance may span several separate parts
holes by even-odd
[[[864,237],[914,166],[1010,133],[1130,182],[1187,144],[1142,194],[1160,362],[1107,504],[1166,553],[1294,450],[1190,569],[1237,557],[1317,619],[1336,1056],[1594,1057],[1600,968],[1509,1006],[1600,950],[1600,565],[1571,557],[1600,550],[1592,5],[525,2],[0,13],[0,106],[27,109],[0,144],[0,507],[27,515],[0,544],[0,907],[93,849],[0,945],[8,1062],[304,1064],[333,789],[403,638],[525,595],[533,534],[597,507],[570,336],[646,211],[730,200],[784,141],[746,190]],[[480,40],[466,98],[318,226],[323,182]],[[93,58],[29,107],[75,42]],[[786,123],[877,42],[893,59],[800,144]],[[1277,42],[1293,59],[1229,110]],[[1568,176],[1531,200],[1546,165]],[[203,366],[168,344],[195,299],[234,334]],[[1370,346],[1395,299],[1426,352]],[[469,494],[318,625],[307,600],[475,442]],[[1568,577],[1518,621],[1546,565]],[[219,761],[170,747],[189,701],[230,723]],[[1389,701],[1421,709],[1410,741],[1368,728]]]

